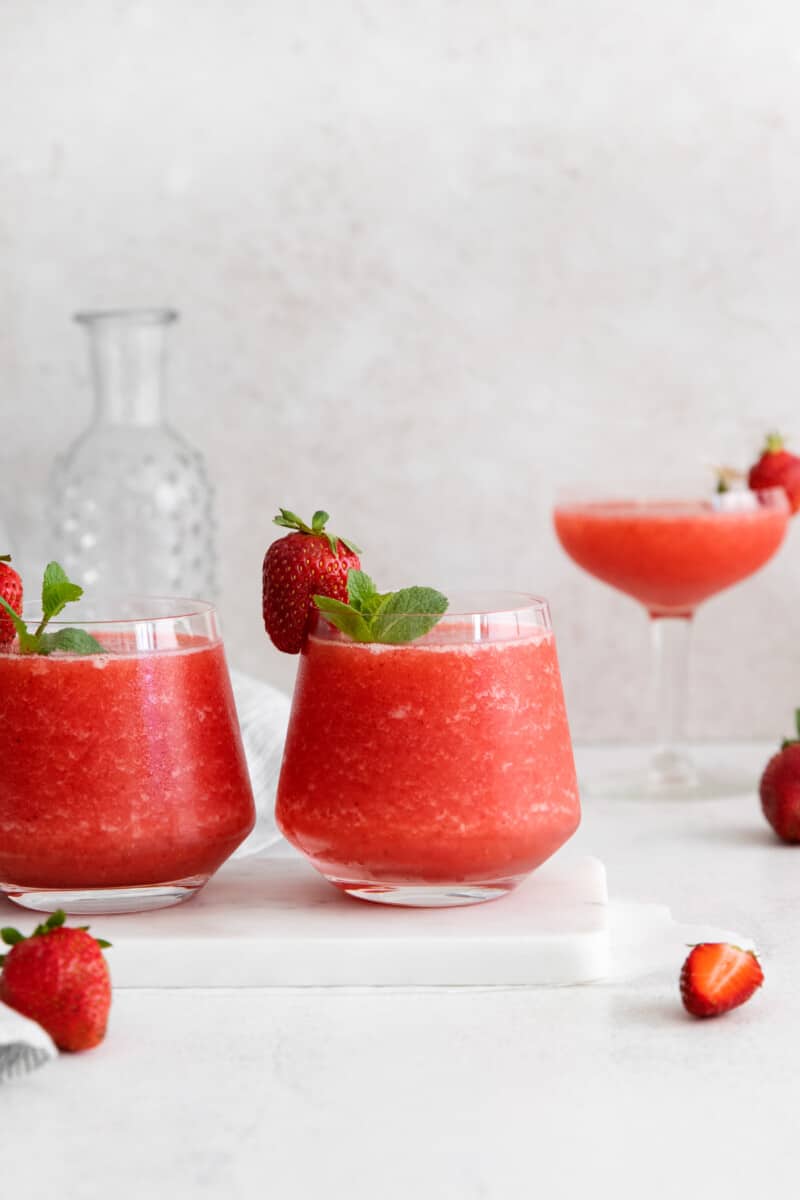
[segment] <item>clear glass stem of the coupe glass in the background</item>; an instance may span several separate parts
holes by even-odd
[[[697,770],[686,750],[692,618],[651,617],[650,631],[656,710],[656,749],[650,760],[650,781],[655,790],[685,788],[697,781]]]

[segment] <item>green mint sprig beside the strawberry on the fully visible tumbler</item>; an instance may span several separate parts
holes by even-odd
[[[447,611],[447,596],[435,588],[378,592],[366,571],[348,571],[348,604],[315,595],[314,604],[354,642],[402,646],[427,634]]]

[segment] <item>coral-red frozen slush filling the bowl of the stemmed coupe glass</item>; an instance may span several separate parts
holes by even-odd
[[[654,616],[690,616],[747,578],[783,541],[788,508],[720,511],[697,503],[590,503],[555,509],[555,532],[584,570]]]

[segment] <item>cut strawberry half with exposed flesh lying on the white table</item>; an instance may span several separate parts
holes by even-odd
[[[744,1004],[763,983],[764,972],[752,950],[702,942],[684,962],[680,995],[692,1016],[720,1016]]]

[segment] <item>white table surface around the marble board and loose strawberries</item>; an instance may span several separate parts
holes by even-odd
[[[0,1088],[5,1194],[796,1196],[800,847],[754,793],[585,800],[575,845],[612,896],[752,935],[760,994],[693,1021],[678,960],[551,990],[119,991],[102,1046]]]

